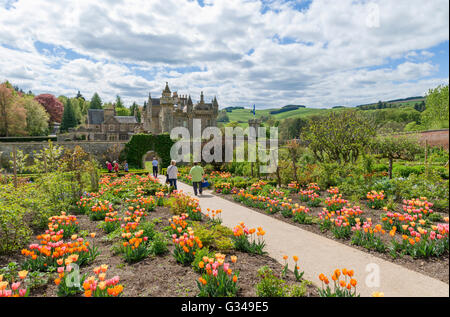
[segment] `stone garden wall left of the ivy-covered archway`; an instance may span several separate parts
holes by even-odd
[[[31,164],[33,158],[33,152],[39,152],[45,147],[47,142],[0,142],[0,167],[8,167],[11,160],[10,154],[12,153],[14,146],[17,150],[21,150],[24,154],[29,154],[29,163]],[[125,141],[106,142],[106,141],[72,141],[72,142],[54,142],[58,146],[63,146],[66,149],[73,149],[79,145],[87,153],[90,153],[95,159],[103,163],[104,155],[108,153],[108,149],[117,147],[117,150],[122,151],[125,147]]]

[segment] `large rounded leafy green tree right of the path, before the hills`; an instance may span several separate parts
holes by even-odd
[[[355,110],[330,112],[310,120],[304,141],[320,161],[355,162],[375,135],[373,124]]]

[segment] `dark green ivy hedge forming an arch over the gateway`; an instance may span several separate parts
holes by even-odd
[[[127,160],[130,167],[144,168],[142,157],[149,151],[155,151],[161,158],[162,166],[170,164],[170,149],[175,142],[169,134],[134,134],[120,154],[121,160]]]

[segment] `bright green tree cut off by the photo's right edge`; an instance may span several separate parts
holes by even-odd
[[[422,112],[422,124],[427,129],[448,128],[448,103],[448,85],[430,89],[426,96],[426,109]]]

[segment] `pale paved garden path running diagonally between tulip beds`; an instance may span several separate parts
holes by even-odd
[[[187,184],[178,182],[178,189],[194,195]],[[444,282],[217,197],[210,190],[204,191],[199,200],[202,210],[222,210],[224,226],[234,228],[243,221],[248,227],[262,227],[268,255],[280,263],[284,263],[284,255],[289,255],[289,268],[294,267],[292,256],[297,255],[304,278],[317,286],[320,273],[331,281],[336,268],[347,268],[355,271],[361,296],[371,296],[375,291],[389,297],[449,296],[449,285]],[[379,286],[370,287],[376,283],[373,276],[377,268]]]

